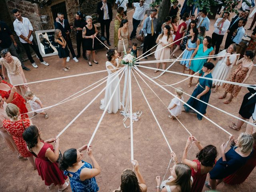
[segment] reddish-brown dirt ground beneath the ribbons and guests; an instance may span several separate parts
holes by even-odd
[[[182,4],[183,2],[180,3]],[[133,11],[128,12],[130,32],[132,30],[132,14]],[[248,20],[245,27],[246,29],[249,28],[251,21],[252,19]],[[210,31],[206,33],[209,36],[211,36],[213,32],[214,22],[215,20],[211,20]],[[114,47],[112,33],[112,31],[114,31],[114,22],[112,22],[111,26],[112,29],[110,39],[112,47]],[[251,32],[252,31],[246,30],[247,34],[251,34]],[[224,40],[221,49],[223,49]],[[132,42],[135,41],[136,40],[132,40]],[[140,53],[141,52],[142,51],[140,51]],[[58,56],[50,56],[44,58],[48,63],[50,63],[50,66],[45,67],[38,64],[38,68],[34,69],[29,62],[26,62],[26,65],[31,68],[31,71],[24,73],[28,82],[33,82],[36,80],[104,70],[106,62],[105,54],[105,48],[98,50],[96,56],[99,64],[93,64],[92,67],[88,66],[87,61],[82,58],[79,58],[80,62],[78,63],[75,63],[71,59],[68,63],[71,70],[68,73],[61,70],[61,60],[58,58]],[[154,57],[150,56],[149,59],[154,60]],[[36,62],[39,63],[39,60],[36,59]],[[145,65],[155,67],[155,64]],[[236,66],[234,69],[235,68]],[[156,76],[152,70],[145,70],[143,68],[141,68],[141,70],[152,76]],[[170,70],[182,72],[182,67],[180,64],[176,63],[172,66],[172,68],[170,68]],[[256,70],[254,69],[250,78],[246,82],[247,84],[255,84],[255,71]],[[44,106],[50,106],[58,103],[71,94],[85,88],[86,86],[100,80],[105,76],[107,76],[107,72],[62,80],[54,80],[44,83],[36,83],[31,84],[29,87],[36,94],[36,96],[41,99]],[[166,73],[159,79],[168,84],[172,84],[184,78],[186,77]],[[148,89],[142,80],[139,79],[139,82],[144,90],[144,93],[146,94],[146,97],[148,98],[150,105],[152,106],[156,118],[166,134],[166,138],[168,139],[172,150],[176,152],[178,160],[180,161],[186,144],[186,139],[189,136],[188,132],[186,132],[186,130],[177,120],[170,120],[168,118],[169,114],[164,104],[158,100],[158,98],[151,92],[151,90]],[[123,83],[124,81],[122,80],[120,84],[121,92],[123,89]],[[194,86],[188,88],[187,83],[188,81],[182,82],[181,84],[177,84],[176,87],[182,87],[186,93],[192,94]],[[193,85],[195,84],[196,80],[194,79]],[[86,106],[92,100],[92,98],[94,98],[94,96],[96,96],[96,94],[98,94],[98,92],[104,88],[104,86],[105,84],[89,92],[88,94],[81,96],[80,98],[49,109],[49,118],[47,120],[45,120],[43,116],[33,118],[33,124],[42,128],[42,138],[46,140],[56,136],[84,108],[84,106]],[[150,86],[154,91],[156,91],[163,102],[168,105],[172,99],[172,96],[158,86],[153,84],[150,84]],[[167,89],[174,93],[172,88]],[[223,104],[223,100],[218,99],[218,96],[220,96],[223,92],[224,90],[220,88],[217,93],[212,93],[210,97],[210,104],[237,116],[240,104],[242,103],[242,98],[244,94],[248,92],[247,89],[242,88],[238,97],[228,105]],[[83,144],[88,143],[103,112],[99,109],[99,102],[103,97],[104,94],[97,98],[96,101],[60,136],[60,150],[62,152],[69,148],[79,148]],[[188,100],[188,96],[184,95],[184,99]],[[134,79],[132,79],[132,107],[134,112],[139,110],[143,112],[140,120],[138,122],[134,122],[133,125],[134,159],[138,160],[140,164],[140,171],[146,180],[148,191],[153,192],[155,191],[156,186],[154,181],[155,177],[157,175],[163,177],[166,172],[170,160],[170,150]],[[30,109],[29,106],[28,108]],[[236,121],[235,118],[232,118],[218,110],[208,107],[207,114],[211,120],[228,130],[228,132],[231,134],[234,134],[235,137],[237,137],[240,132],[245,131],[246,125],[242,126],[240,132],[228,128],[228,125],[232,121]],[[102,169],[100,175],[96,177],[98,186],[102,192],[111,192],[112,190],[118,188],[120,185],[120,175],[122,170],[125,168],[132,168],[132,164],[130,162],[130,129],[124,128],[122,119],[123,116],[121,116],[119,113],[106,114],[102,120],[102,123],[100,124],[94,140],[92,141],[94,157]],[[196,136],[203,146],[213,144],[218,148],[218,150],[220,150],[220,145],[228,140],[228,134],[214,126],[214,124],[210,123],[205,118],[203,118],[202,121],[198,121],[195,114],[182,113],[182,115],[179,116],[179,120],[194,136]],[[128,123],[129,122],[127,121],[126,124]],[[10,152],[2,138],[0,138],[0,151],[0,191],[48,191],[44,185],[44,182],[41,180],[40,176],[38,176],[37,171],[32,171],[32,167],[28,161],[18,160],[17,155]],[[197,152],[198,149],[196,146],[193,146],[188,154],[188,158],[191,160],[196,158]],[[84,153],[84,160],[90,162],[86,153]],[[171,166],[173,166],[173,163]],[[170,175],[169,171],[166,178],[168,178],[168,175]],[[240,186],[228,186],[222,183],[218,186],[218,190],[223,192],[256,191],[255,177],[256,170],[254,169],[248,179]],[[57,187],[52,189],[52,191],[56,190]],[[205,190],[207,190],[207,188],[204,187],[203,191]],[[71,188],[68,187],[66,192],[71,192]]]

